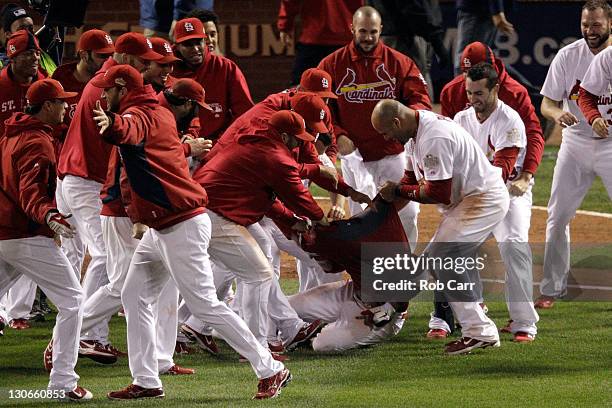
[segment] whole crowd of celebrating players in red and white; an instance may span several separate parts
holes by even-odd
[[[108,397],[160,398],[160,375],[194,374],[175,352],[191,341],[217,354],[218,337],[251,364],[254,398],[276,397],[292,379],[285,352],[369,346],[402,329],[409,299],[362,299],[360,249],[415,251],[421,204],[443,213],[430,256],[448,242],[475,254],[498,241],[510,318],[501,331],[535,340],[536,308],[565,292],[571,217],[595,175],[612,189],[610,6],[584,5],[583,38],[557,54],[542,89],[542,113],[564,137],[535,303],[528,232],[544,139],[527,90],[475,42],[433,113],[419,68],[380,41],[379,12],[351,13],[348,44],[257,104],[198,18],[178,21],[173,43],[85,31],[78,60],[52,75],[32,31],[14,30],[0,72],[0,333],[29,327],[19,311],[40,287],[58,311],[44,351],[50,389],[91,399],[78,357],[127,356],[133,382]],[[14,15],[16,27],[29,18]],[[329,213],[309,183],[330,193]],[[297,260],[289,297],[280,251]],[[427,337],[461,327],[448,354],[500,345],[474,295],[436,296]],[[120,310],[127,353],[108,341]]]

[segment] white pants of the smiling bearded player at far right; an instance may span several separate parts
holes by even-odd
[[[591,188],[595,176],[601,177],[608,196],[612,199],[612,140],[563,138],[553,173],[546,246],[544,276],[540,292],[561,297],[567,292],[570,270],[569,223]]]

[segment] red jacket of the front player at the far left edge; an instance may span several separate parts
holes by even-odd
[[[15,113],[0,136],[0,240],[53,237],[45,215],[55,205],[53,128]]]

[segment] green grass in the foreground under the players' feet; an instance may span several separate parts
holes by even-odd
[[[295,280],[285,280],[288,291]],[[507,319],[502,303],[489,304],[501,327]],[[541,313],[540,334],[533,344],[514,344],[470,356],[445,356],[441,342],[425,340],[429,303],[410,307],[402,332],[385,344],[343,355],[290,354],[294,381],[274,401],[250,398],[256,379],[248,364],[223,344],[221,356],[204,353],[176,358],[196,368],[194,376],[162,377],[166,398],[138,406],[159,407],[594,407],[611,406],[612,304],[559,302]],[[43,389],[48,377],[42,351],[50,322],[28,331],[6,329],[0,338],[0,405],[46,406],[48,401],[8,399],[8,389]],[[125,322],[114,317],[111,340],[125,349]],[[79,360],[80,384],[94,393],[87,406],[118,406],[108,391],[130,382],[127,359],[114,366]],[[128,403],[129,404],[129,403]],[[56,405],[60,406],[60,405]],[[73,405],[72,405],[73,406]],[[127,406],[127,404],[122,405]]]

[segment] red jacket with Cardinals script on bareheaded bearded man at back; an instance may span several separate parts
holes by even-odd
[[[318,68],[331,75],[338,95],[336,137],[351,139],[364,161],[404,151],[402,144],[385,141],[372,127],[370,116],[378,101],[397,99],[412,109],[431,110],[427,84],[416,64],[382,42],[364,54],[351,41],[325,57]]]

